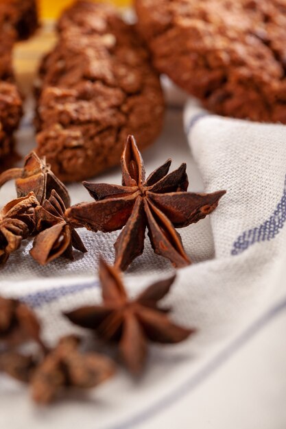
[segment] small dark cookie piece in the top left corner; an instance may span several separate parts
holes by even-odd
[[[36,0],[0,0],[0,23],[10,24],[19,40],[29,38],[38,27]]]

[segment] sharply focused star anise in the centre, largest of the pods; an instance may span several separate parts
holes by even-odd
[[[115,265],[122,270],[143,253],[146,228],[156,254],[171,260],[175,267],[189,265],[175,228],[206,217],[226,193],[188,193],[186,164],[168,174],[170,165],[171,160],[167,160],[145,180],[141,154],[134,137],[129,136],[121,158],[122,186],[84,182],[96,201],[78,204],[66,212],[75,225],[95,232],[125,226],[115,243]]]

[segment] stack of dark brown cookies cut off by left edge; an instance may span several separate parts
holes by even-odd
[[[0,163],[11,157],[13,134],[22,116],[22,98],[12,69],[12,49],[37,27],[34,0],[0,0]]]

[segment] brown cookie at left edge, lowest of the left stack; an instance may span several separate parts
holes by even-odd
[[[13,132],[22,116],[22,99],[15,84],[0,82],[0,169],[13,151]]]

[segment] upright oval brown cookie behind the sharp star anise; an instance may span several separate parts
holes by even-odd
[[[37,152],[61,180],[119,164],[128,134],[150,145],[164,101],[149,53],[116,10],[80,1],[58,23],[58,45],[40,66]]]

